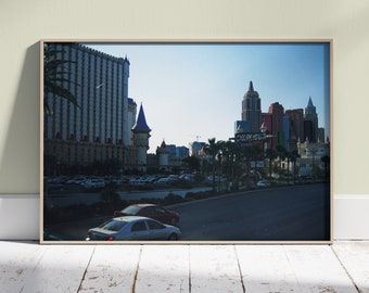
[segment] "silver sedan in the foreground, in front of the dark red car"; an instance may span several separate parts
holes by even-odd
[[[90,240],[178,240],[177,227],[140,216],[117,217],[105,221],[97,228],[89,229],[86,241]]]

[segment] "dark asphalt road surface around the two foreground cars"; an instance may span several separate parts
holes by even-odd
[[[182,241],[329,241],[329,184],[238,192],[170,206],[180,213]],[[81,241],[104,219],[49,227]]]

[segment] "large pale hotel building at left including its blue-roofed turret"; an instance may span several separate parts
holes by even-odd
[[[60,86],[77,105],[50,91],[43,116],[44,175],[98,173],[112,165],[120,171],[145,170],[150,128],[142,105],[128,98],[130,62],[75,42],[47,42],[62,60]],[[49,60],[50,61],[50,60]],[[44,61],[46,62],[46,61]],[[96,170],[94,170],[96,169]]]

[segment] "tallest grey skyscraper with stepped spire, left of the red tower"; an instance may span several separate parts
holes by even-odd
[[[249,91],[242,100],[242,120],[250,123],[251,132],[259,132],[262,126],[262,105],[258,92],[250,81]]]

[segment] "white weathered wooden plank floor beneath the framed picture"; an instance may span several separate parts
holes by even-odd
[[[369,293],[369,242],[39,245],[0,241],[0,292]]]

